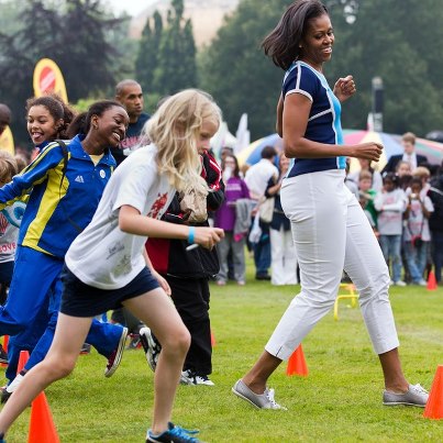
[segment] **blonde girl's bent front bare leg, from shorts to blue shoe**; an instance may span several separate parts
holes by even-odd
[[[152,290],[123,303],[135,317],[149,325],[162,344],[155,370],[155,400],[152,431],[167,429],[173,411],[190,335],[171,300],[163,289]]]

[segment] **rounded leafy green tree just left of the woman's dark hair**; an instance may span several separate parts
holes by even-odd
[[[242,1],[199,59],[201,87],[218,101],[231,131],[247,112],[253,139],[275,132],[284,73],[265,57],[259,45],[289,3]]]

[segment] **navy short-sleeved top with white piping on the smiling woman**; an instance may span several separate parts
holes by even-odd
[[[312,101],[304,137],[312,142],[343,144],[342,107],[328,85],[325,77],[303,62],[295,62],[283,81],[284,99],[290,93],[302,93]],[[287,177],[328,169],[344,169],[346,158],[294,158]]]

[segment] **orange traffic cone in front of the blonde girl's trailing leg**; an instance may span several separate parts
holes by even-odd
[[[38,394],[31,406],[30,434],[27,443],[59,443],[53,414],[45,392]]]

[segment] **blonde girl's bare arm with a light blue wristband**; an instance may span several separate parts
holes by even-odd
[[[191,232],[193,230],[193,242],[190,243],[197,243],[209,250],[224,236],[224,232],[220,228],[193,228],[184,224],[168,223],[142,215],[137,209],[129,204],[124,204],[120,208],[119,226],[123,232],[135,235],[180,240],[189,240],[190,236],[192,236]]]

